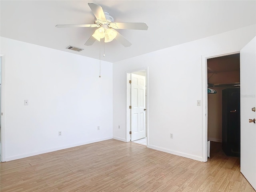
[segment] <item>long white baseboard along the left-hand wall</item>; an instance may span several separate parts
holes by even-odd
[[[91,140],[91,141],[87,141],[87,142],[83,142],[83,143],[77,143],[77,144],[72,144],[72,145],[58,147],[58,148],[52,148],[52,149],[33,152],[33,153],[28,153],[28,154],[11,156],[11,157],[5,158],[2,161],[3,162],[12,161],[12,160],[16,160],[16,159],[21,159],[21,158],[25,158],[25,157],[34,156],[34,155],[40,155],[40,154],[44,154],[44,153],[48,153],[48,152],[58,151],[58,150],[67,149],[67,148],[71,148],[71,147],[77,147],[77,146],[86,145],[86,144],[95,143],[95,142],[104,141],[104,140],[109,140],[109,139],[112,139],[112,137],[102,138],[102,139],[97,139],[97,140]]]

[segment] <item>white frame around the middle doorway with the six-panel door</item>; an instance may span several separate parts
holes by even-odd
[[[149,140],[149,131],[148,131],[148,67],[142,67],[137,68],[133,70],[128,70],[125,72],[125,116],[126,116],[126,122],[125,122],[125,140],[126,142],[130,142],[130,84],[129,84],[129,76],[131,73],[140,72],[140,71],[146,71],[146,136],[147,136],[147,146],[148,146],[148,140]]]

